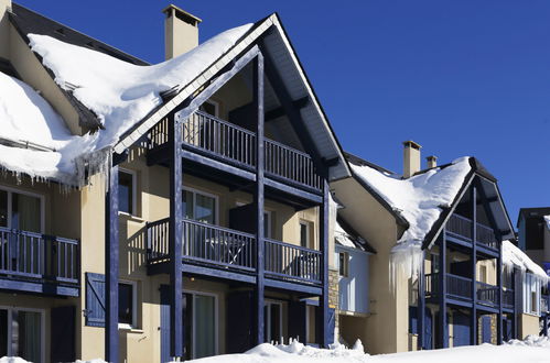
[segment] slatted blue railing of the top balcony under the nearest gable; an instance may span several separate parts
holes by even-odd
[[[154,154],[168,145],[169,123],[160,121],[148,134],[148,150]],[[182,124],[183,148],[223,164],[254,173],[256,169],[256,133],[202,111]],[[277,183],[320,193],[322,178],[313,160],[299,150],[266,139],[265,174]]]

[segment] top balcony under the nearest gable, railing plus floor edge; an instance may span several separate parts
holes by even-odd
[[[169,121],[161,120],[148,134],[149,164],[165,162]],[[182,123],[183,157],[198,166],[211,168],[204,174],[214,177],[212,167],[240,179],[255,180],[256,133],[197,111]],[[323,180],[306,153],[266,139],[266,188],[287,191],[313,201],[321,201]],[[193,172],[199,169],[195,167]],[[219,178],[229,183],[227,175]],[[241,186],[242,183],[236,183]]]

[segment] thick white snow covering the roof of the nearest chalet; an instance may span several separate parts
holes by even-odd
[[[94,154],[105,157],[107,153],[100,151],[112,146],[120,135],[162,105],[162,91],[181,89],[199,76],[251,26],[228,30],[179,57],[151,66],[126,63],[47,35],[29,34],[32,50],[54,73],[56,84],[94,111],[105,129],[84,136],[71,135],[63,119],[36,91],[1,74],[1,167],[82,184],[76,178],[78,158]],[[18,147],[25,142],[36,147]]]

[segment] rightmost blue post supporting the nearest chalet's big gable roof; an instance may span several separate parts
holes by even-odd
[[[321,255],[322,255],[322,263],[321,263],[321,268],[322,268],[322,274],[323,274],[323,296],[320,299],[320,308],[321,308],[321,314],[323,315],[322,317],[322,324],[323,324],[323,341],[322,344],[324,348],[328,348],[328,344],[332,344],[333,342],[328,341],[328,337],[333,337],[333,333],[328,332],[328,210],[330,210],[330,198],[331,198],[331,190],[328,187],[328,183],[326,182],[326,178],[328,177],[323,173],[323,177],[325,178],[323,182],[323,205],[321,206],[321,213],[320,213],[320,243],[319,246],[321,248]],[[336,319],[336,317],[334,317]]]

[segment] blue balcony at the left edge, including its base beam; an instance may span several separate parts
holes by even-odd
[[[78,296],[78,241],[0,228],[2,288]]]

